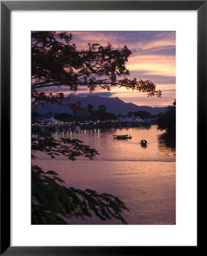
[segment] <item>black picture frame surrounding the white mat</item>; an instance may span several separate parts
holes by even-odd
[[[197,174],[205,166],[207,1],[1,1],[1,255],[167,255],[185,246],[10,246],[10,12],[12,10],[197,10]],[[196,90],[196,88],[195,88]],[[201,144],[202,143],[202,144]],[[199,200],[199,196],[197,197]],[[198,236],[197,236],[198,237]],[[191,251],[200,247],[191,247]]]

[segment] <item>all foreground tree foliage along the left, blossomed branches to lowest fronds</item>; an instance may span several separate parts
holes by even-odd
[[[160,97],[162,94],[150,80],[127,78],[130,71],[125,64],[131,51],[126,46],[114,49],[110,43],[105,47],[88,43],[88,49],[77,49],[68,32],[32,31],[31,37],[32,106],[57,103],[69,106],[73,114],[78,115],[80,102],[65,102],[61,89],[57,90],[61,86],[68,86],[74,92],[79,86],[88,86],[90,92],[97,86],[107,90],[111,86],[124,86],[145,92],[147,96]],[[92,109],[90,106],[88,111]],[[69,160],[80,156],[93,159],[98,154],[81,141],[64,138],[56,141],[51,134],[32,138],[32,158],[36,158],[38,151],[51,158],[64,155]],[[32,224],[66,224],[64,217],[90,217],[90,212],[101,220],[113,217],[126,224],[121,212],[128,209],[117,197],[90,189],[66,188],[63,184],[56,172],[44,172],[32,165]]]

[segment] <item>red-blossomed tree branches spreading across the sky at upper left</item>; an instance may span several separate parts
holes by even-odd
[[[88,43],[87,49],[77,49],[68,32],[33,31],[31,37],[32,105],[63,104],[64,94],[53,92],[53,86],[68,86],[73,92],[80,86],[87,86],[90,92],[98,86],[107,90],[119,86],[147,96],[162,95],[150,80],[128,78],[126,62],[131,51],[127,46],[113,48],[110,43],[104,47]]]

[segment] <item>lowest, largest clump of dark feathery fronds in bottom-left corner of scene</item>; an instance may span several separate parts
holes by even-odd
[[[32,224],[67,224],[64,218],[85,220],[92,213],[103,221],[117,218],[127,224],[121,212],[128,209],[118,197],[90,189],[67,188],[63,184],[56,172],[32,166]]]

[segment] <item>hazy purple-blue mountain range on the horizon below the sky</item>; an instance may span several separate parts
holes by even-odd
[[[88,104],[92,104],[94,106],[93,110],[98,109],[99,105],[106,106],[106,112],[114,113],[114,114],[127,114],[128,112],[136,112],[136,111],[146,111],[150,114],[158,114],[160,112],[165,112],[166,107],[151,107],[151,106],[138,106],[133,103],[126,103],[120,100],[118,97],[101,97],[97,95],[89,95],[87,97],[77,96],[74,93],[69,94],[68,103],[76,103],[77,101],[81,102],[81,108],[86,108]],[[72,110],[69,106],[58,105],[58,104],[47,104],[45,107],[37,105],[36,111],[40,114],[48,114],[48,113],[69,113],[72,114]]]

